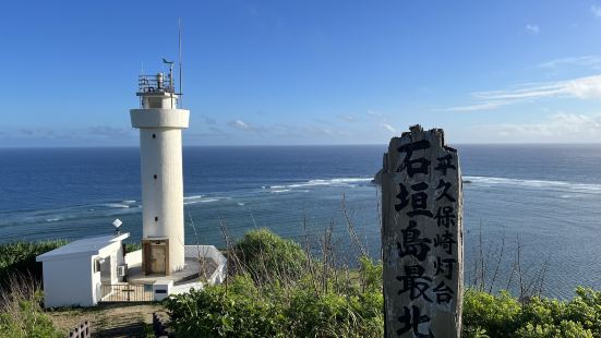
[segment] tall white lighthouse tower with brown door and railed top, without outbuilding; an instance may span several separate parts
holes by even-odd
[[[184,266],[181,130],[190,111],[177,108],[172,62],[167,63],[169,74],[140,75],[141,108],[130,110],[132,126],[140,129],[142,270],[158,276]]]

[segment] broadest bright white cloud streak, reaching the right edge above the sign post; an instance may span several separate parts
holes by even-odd
[[[514,105],[525,100],[537,100],[550,97],[568,97],[579,99],[601,99],[601,75],[577,77],[557,82],[520,84],[510,89],[471,93],[474,102],[467,106],[450,107],[445,111],[492,110],[502,106]]]

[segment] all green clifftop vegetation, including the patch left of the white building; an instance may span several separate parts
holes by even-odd
[[[226,283],[165,301],[178,337],[383,336],[381,263],[360,255],[350,267],[327,237],[311,248],[256,229],[228,243]],[[61,244],[0,245],[0,336],[62,337],[41,309],[35,264]],[[483,289],[465,293],[464,337],[601,338],[601,291],[560,301]]]

